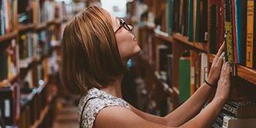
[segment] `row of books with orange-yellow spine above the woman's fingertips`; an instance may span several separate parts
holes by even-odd
[[[208,2],[210,53],[226,42],[227,61],[256,69],[255,0]]]

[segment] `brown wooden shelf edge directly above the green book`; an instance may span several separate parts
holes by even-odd
[[[179,42],[183,43],[184,45],[189,46],[190,48],[194,48],[196,50],[203,51],[207,53],[208,47],[206,43],[203,42],[189,42],[187,37],[182,36],[181,34],[174,33],[173,39],[178,40]]]

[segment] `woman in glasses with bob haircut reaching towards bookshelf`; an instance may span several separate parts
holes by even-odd
[[[224,45],[206,83],[179,108],[159,117],[143,113],[122,99],[125,64],[140,52],[131,31],[132,26],[124,20],[99,7],[86,8],[65,27],[61,80],[70,91],[83,94],[78,106],[80,127],[209,127],[230,92],[230,65],[222,64]],[[201,110],[214,87],[214,99]]]

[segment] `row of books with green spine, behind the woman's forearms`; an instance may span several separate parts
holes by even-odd
[[[156,50],[157,71],[170,87],[174,86],[173,55],[167,45],[158,45]],[[189,50],[178,60],[179,101],[186,101],[203,84],[208,76],[208,56]]]

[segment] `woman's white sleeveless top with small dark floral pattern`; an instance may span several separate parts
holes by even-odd
[[[92,128],[99,111],[110,106],[121,106],[130,110],[129,104],[124,99],[114,97],[96,88],[89,89],[87,94],[81,97],[78,105],[79,126],[82,128]],[[80,121],[80,118],[82,121]]]

